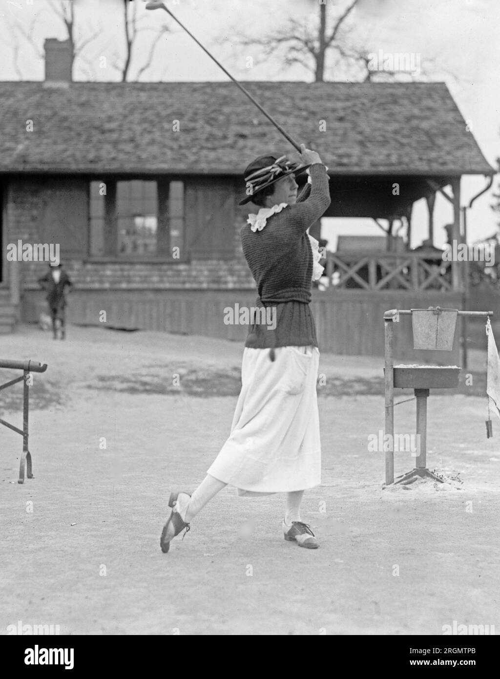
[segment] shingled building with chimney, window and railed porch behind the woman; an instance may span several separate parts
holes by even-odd
[[[256,156],[290,148],[231,82],[71,82],[64,55],[46,41],[45,81],[0,83],[1,327],[35,321],[43,308],[46,263],[7,261],[6,245],[22,240],[60,244],[75,283],[70,322],[98,325],[106,310],[115,327],[244,337],[221,320],[225,307],[256,297],[239,244],[242,172]],[[461,176],[495,173],[444,83],[246,87],[321,149],[332,199],[325,217],[401,219],[409,232],[412,205],[425,198],[432,238],[441,191],[459,240]],[[383,327],[353,339],[347,326],[379,323],[387,308],[436,300],[461,308],[460,263],[446,277],[425,253],[355,255],[329,253],[327,272],[341,283],[314,291],[325,350],[383,354]]]

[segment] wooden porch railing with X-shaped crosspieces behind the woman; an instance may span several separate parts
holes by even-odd
[[[330,289],[453,290],[451,262],[434,253],[327,253]]]

